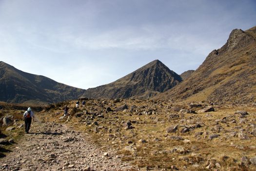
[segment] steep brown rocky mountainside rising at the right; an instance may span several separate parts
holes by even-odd
[[[156,99],[251,103],[256,101],[256,27],[235,29],[190,78]]]

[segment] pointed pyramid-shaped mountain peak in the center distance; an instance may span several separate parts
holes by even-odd
[[[181,82],[181,77],[155,60],[117,81],[89,88],[84,96],[89,98],[149,98]]]

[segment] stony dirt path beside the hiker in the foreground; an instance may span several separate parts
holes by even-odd
[[[124,171],[129,168],[113,151],[101,150],[87,141],[86,134],[69,130],[64,124],[32,122],[30,133],[24,136],[13,152],[0,159],[0,170]]]

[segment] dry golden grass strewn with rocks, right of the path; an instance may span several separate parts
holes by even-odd
[[[215,159],[220,168],[216,166],[214,168],[218,170],[256,170],[253,165],[248,165],[249,167],[245,168],[240,165],[242,156],[246,156],[248,159],[256,156],[256,137],[250,134],[252,128],[248,125],[256,122],[255,107],[222,105],[215,106],[215,112],[191,114],[172,110],[171,107],[189,108],[186,104],[181,103],[123,100],[117,104],[112,101],[105,101],[106,103],[102,104],[102,101],[87,101],[86,107],[77,112],[87,110],[89,114],[84,114],[81,117],[74,115],[67,123],[72,128],[87,132],[91,140],[102,147],[102,150],[117,150],[124,162],[130,162],[139,168],[154,168],[155,170],[169,170],[173,165],[179,170],[206,170],[208,160]],[[115,109],[124,103],[129,107],[127,110],[105,113],[106,107]],[[70,107],[73,104],[75,101],[70,103]],[[133,105],[136,106],[138,112],[129,112]],[[208,104],[202,105],[203,107],[208,106]],[[140,114],[150,109],[155,113],[152,115]],[[238,115],[234,115],[236,110],[246,110],[250,114],[246,118],[239,118]],[[54,114],[56,117],[48,118],[52,121],[53,119],[58,121],[59,116],[62,115],[62,113],[58,114],[58,112],[62,112],[58,107],[49,112],[57,112]],[[104,118],[98,117],[99,114],[103,114]],[[180,117],[170,119],[170,114],[178,114]],[[92,119],[93,115],[95,117]],[[221,122],[224,117],[228,118],[227,120],[235,119],[236,123]],[[242,119],[246,119],[246,122],[240,124]],[[123,123],[129,120],[134,128],[125,129]],[[92,124],[95,121],[98,125]],[[87,122],[91,124],[88,125]],[[205,126],[186,133],[180,132],[184,128],[183,126],[192,126],[197,122],[201,122]],[[177,132],[167,133],[166,129],[172,125],[178,125]],[[220,131],[214,129],[218,125],[221,127]],[[240,140],[238,137],[229,136],[233,131],[239,132],[239,127],[250,137],[250,140]],[[202,135],[196,136],[198,132],[202,132]],[[209,140],[208,137],[211,134],[220,136]],[[181,136],[183,139],[189,139],[190,143],[173,140],[170,136]],[[140,139],[146,140],[146,143],[139,142]],[[124,147],[130,145],[133,146],[135,152],[123,150]],[[184,151],[173,151],[177,147],[182,147]]]

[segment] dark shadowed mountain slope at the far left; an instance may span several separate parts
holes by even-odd
[[[83,89],[60,84],[44,76],[29,74],[0,62],[0,101],[53,103],[78,98],[84,92]]]

